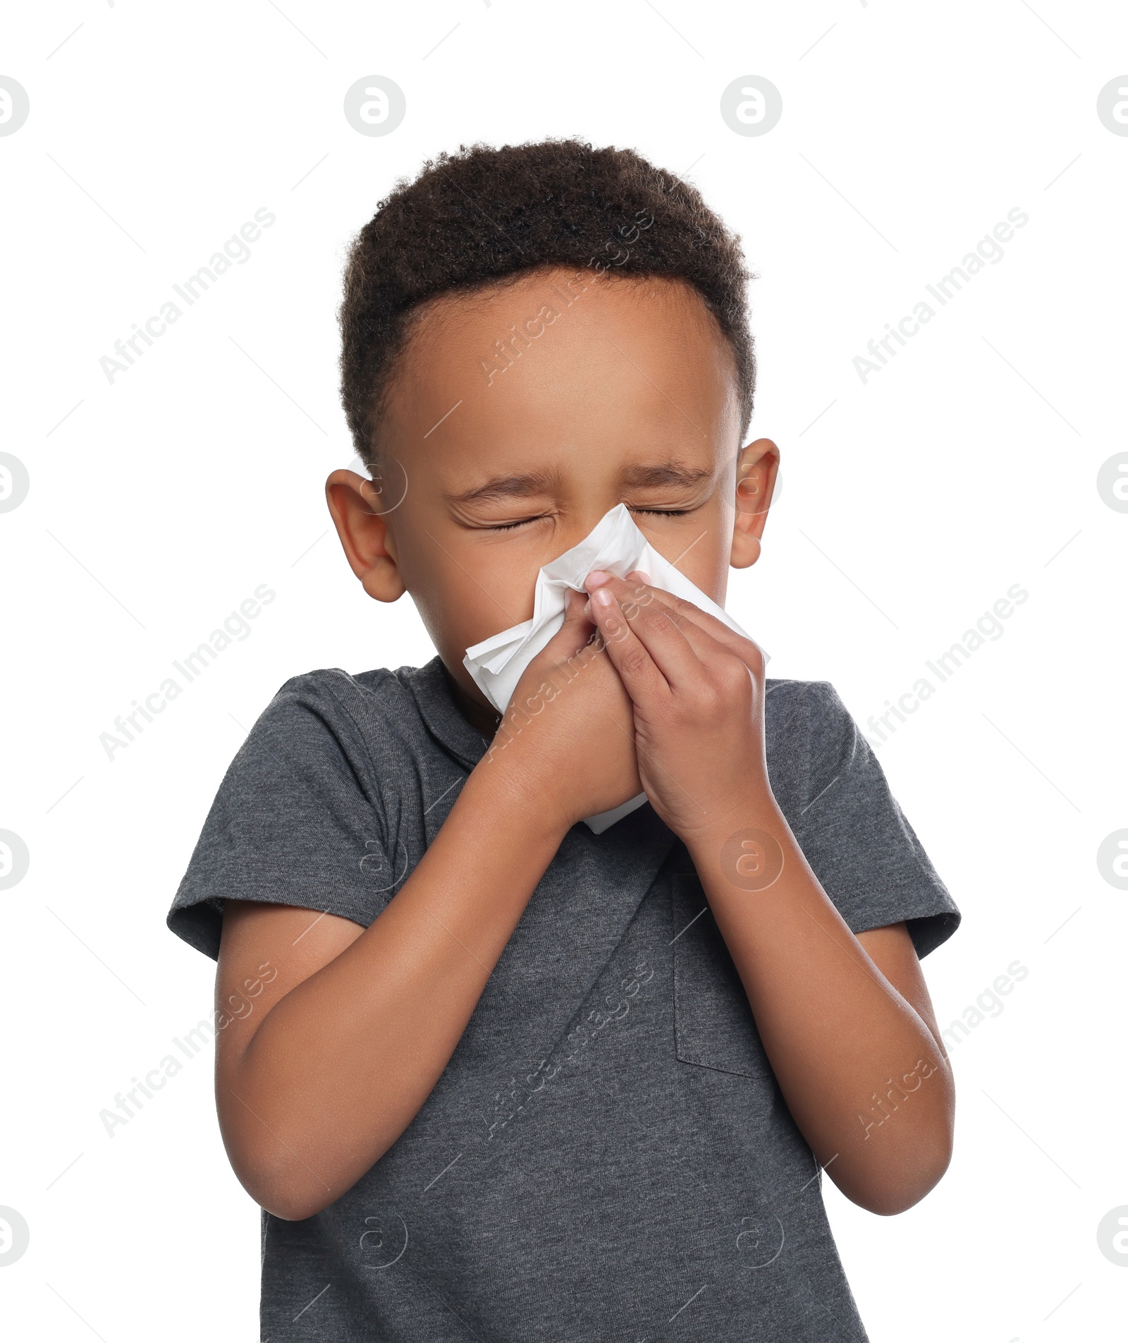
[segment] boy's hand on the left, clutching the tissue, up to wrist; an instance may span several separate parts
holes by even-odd
[[[631,698],[606,649],[588,643],[585,604],[568,594],[564,624],[525,669],[477,767],[514,800],[547,808],[541,819],[561,833],[642,792]]]

